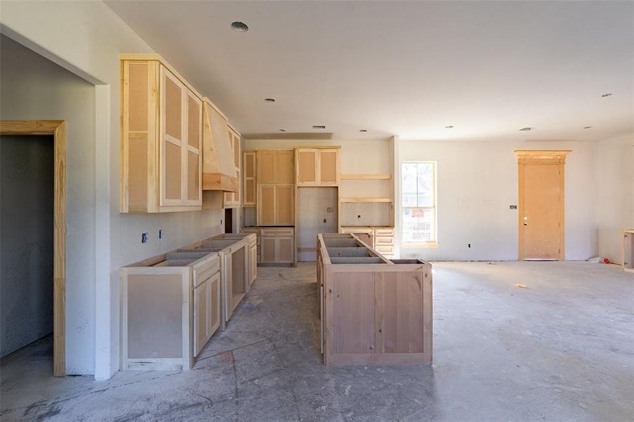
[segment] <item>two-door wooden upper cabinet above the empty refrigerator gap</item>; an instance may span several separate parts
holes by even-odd
[[[338,186],[338,148],[297,148],[297,186]]]

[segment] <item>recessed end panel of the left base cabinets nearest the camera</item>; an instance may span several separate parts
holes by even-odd
[[[180,274],[129,274],[129,359],[182,357],[182,291]]]

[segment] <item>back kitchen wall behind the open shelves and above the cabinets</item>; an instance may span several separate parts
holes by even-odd
[[[339,166],[341,174],[391,174],[393,158],[388,139],[365,140],[300,140],[300,139],[247,139],[244,149],[283,149],[296,146],[341,146]],[[342,180],[341,198],[355,196],[391,196],[393,180]],[[392,224],[391,204],[344,203],[339,216],[341,225]],[[251,221],[251,220],[248,220]]]

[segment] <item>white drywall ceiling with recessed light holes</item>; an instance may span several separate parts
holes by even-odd
[[[106,4],[245,136],[592,140],[634,131],[633,1]],[[250,30],[232,31],[236,20]]]

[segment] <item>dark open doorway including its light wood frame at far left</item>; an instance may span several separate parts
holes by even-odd
[[[52,332],[64,376],[65,122],[2,120],[0,143],[2,354]]]

